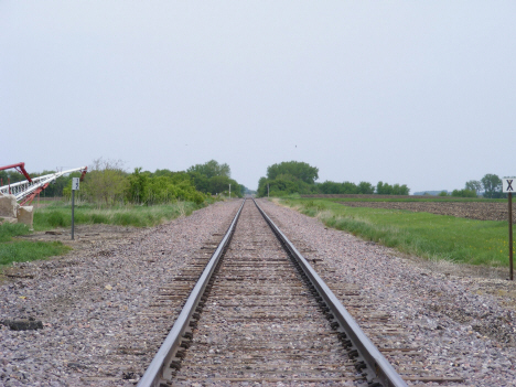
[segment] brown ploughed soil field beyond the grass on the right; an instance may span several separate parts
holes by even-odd
[[[507,221],[507,203],[481,202],[340,202],[350,207],[406,209],[416,213],[450,215],[479,221]],[[513,223],[516,223],[516,206],[513,205]]]

